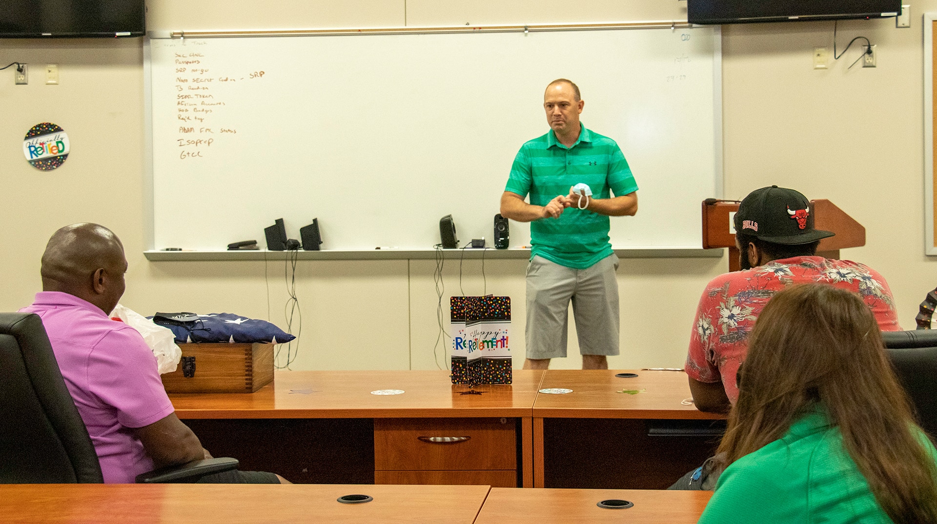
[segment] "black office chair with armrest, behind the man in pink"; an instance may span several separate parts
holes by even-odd
[[[137,476],[194,482],[238,467],[195,460]],[[0,313],[0,484],[101,483],[101,466],[38,315]]]

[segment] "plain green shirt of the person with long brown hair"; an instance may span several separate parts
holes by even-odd
[[[923,433],[921,441],[933,459],[934,447]],[[877,524],[891,519],[843,449],[840,429],[817,410],[781,439],[726,468],[699,522]]]

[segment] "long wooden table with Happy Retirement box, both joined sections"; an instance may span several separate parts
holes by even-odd
[[[685,401],[682,372],[617,372],[515,370],[511,386],[471,388],[448,371],[279,371],[255,393],[170,398],[216,457],[293,482],[665,488],[716,442],[651,426],[721,416]],[[371,393],[387,389],[404,393]],[[432,442],[447,437],[465,442]]]

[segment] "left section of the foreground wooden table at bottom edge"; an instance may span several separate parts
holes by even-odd
[[[471,524],[487,486],[13,484],[0,486],[4,524]],[[366,494],[371,502],[339,497]]]

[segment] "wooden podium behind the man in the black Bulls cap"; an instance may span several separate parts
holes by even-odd
[[[737,202],[703,201],[703,248],[729,248],[729,270],[737,271],[738,248],[731,217],[738,211]],[[835,237],[820,240],[817,255],[840,258],[840,249],[866,245],[866,228],[855,221],[836,204],[825,199],[811,200],[813,226],[836,233]]]

